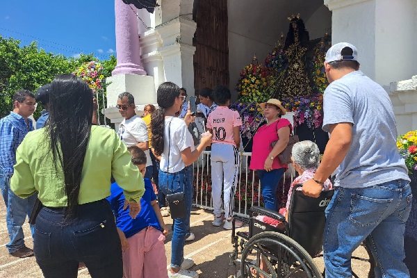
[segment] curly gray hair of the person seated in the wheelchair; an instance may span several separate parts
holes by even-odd
[[[320,149],[309,140],[297,142],[293,146],[292,156],[302,169],[317,169],[320,163]]]

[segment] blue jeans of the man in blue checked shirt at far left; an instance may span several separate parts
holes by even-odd
[[[1,195],[3,195],[4,203],[6,204],[6,224],[10,238],[10,242],[6,244],[10,254],[18,251],[24,247],[24,234],[22,225],[26,220],[26,215],[30,216],[32,208],[35,205],[37,194],[32,195],[26,199],[15,195],[10,190],[10,177],[8,174],[3,174],[0,169],[0,188]],[[35,238],[35,226],[31,225],[32,238]]]

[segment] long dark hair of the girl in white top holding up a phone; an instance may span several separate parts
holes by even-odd
[[[152,147],[155,154],[160,156],[163,153],[164,141],[163,131],[165,129],[165,108],[170,108],[179,97],[179,87],[172,82],[164,82],[158,87],[156,101],[159,109],[151,115]]]

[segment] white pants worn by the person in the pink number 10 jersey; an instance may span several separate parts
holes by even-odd
[[[234,145],[221,143],[211,145],[211,195],[216,216],[222,213],[222,184],[224,217],[233,216],[239,161],[239,150]]]

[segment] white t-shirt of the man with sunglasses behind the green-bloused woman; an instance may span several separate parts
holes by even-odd
[[[134,146],[138,142],[148,142],[147,125],[138,115],[134,115],[129,120],[123,119],[119,126],[117,135],[124,144]],[[151,156],[149,155],[149,149],[145,151],[146,154],[146,165],[152,165]]]

